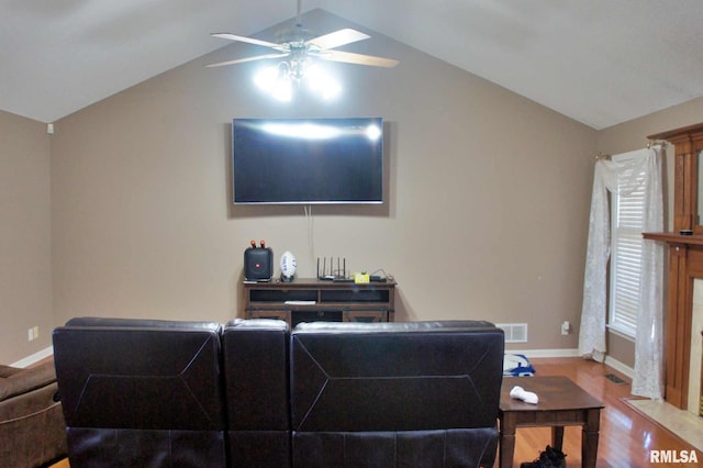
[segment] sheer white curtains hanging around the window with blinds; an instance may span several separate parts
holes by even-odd
[[[663,202],[661,192],[660,148],[652,147],[626,154],[618,160],[601,159],[595,163],[593,194],[589,221],[583,307],[579,332],[579,354],[603,361],[605,358],[606,272],[610,257],[610,209],[607,191],[627,196],[623,190],[645,187],[644,232],[663,231]],[[639,175],[645,174],[644,178]],[[618,177],[629,177],[626,183]],[[639,182],[639,183],[637,183]],[[635,375],[633,394],[661,399],[663,397],[662,346],[662,272],[663,246],[654,241],[643,242],[640,297],[635,339]]]

